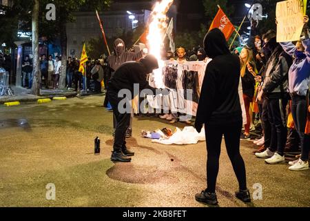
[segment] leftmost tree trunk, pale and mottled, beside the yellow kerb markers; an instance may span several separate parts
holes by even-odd
[[[39,0],[34,0],[32,10],[32,54],[33,54],[33,81],[31,93],[40,95],[40,60],[39,60]]]

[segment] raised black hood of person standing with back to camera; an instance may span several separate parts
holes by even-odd
[[[203,45],[207,57],[211,59],[219,55],[230,54],[225,36],[218,28],[214,28],[207,32],[203,40]]]

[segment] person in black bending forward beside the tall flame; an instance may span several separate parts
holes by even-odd
[[[125,133],[130,125],[131,100],[138,95],[139,90],[143,89],[152,90],[153,95],[156,94],[156,88],[149,86],[147,74],[152,73],[157,68],[158,61],[152,55],[147,55],[140,61],[128,61],[116,70],[107,84],[107,95],[116,117],[112,161],[130,162],[130,156],[134,155],[133,152],[127,149],[125,142]],[[139,90],[134,90],[134,84],[138,84]],[[118,95],[120,91],[126,94],[125,97]]]

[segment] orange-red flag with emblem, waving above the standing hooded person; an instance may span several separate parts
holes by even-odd
[[[235,30],[234,25],[229,21],[228,17],[225,15],[221,8],[218,9],[218,13],[212,21],[209,30],[212,30],[214,28],[218,28],[223,32],[226,41],[229,40],[229,37],[231,37],[232,33]]]

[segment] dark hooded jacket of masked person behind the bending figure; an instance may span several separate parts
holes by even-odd
[[[118,44],[123,44],[122,50],[117,50],[116,46]],[[113,74],[119,66],[121,66],[126,61],[136,61],[143,57],[143,51],[141,50],[138,53],[134,52],[126,52],[125,51],[125,43],[122,39],[116,39],[114,41],[114,55],[110,55],[107,57],[107,64],[111,69],[111,73]]]

